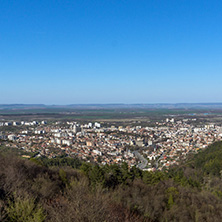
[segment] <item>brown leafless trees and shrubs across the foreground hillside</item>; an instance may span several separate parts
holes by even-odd
[[[184,171],[195,178],[193,169]],[[47,168],[13,156],[0,155],[0,220],[5,207],[19,197],[30,197],[44,209],[46,221],[221,221],[222,200],[212,194],[221,190],[219,178],[208,190],[183,187],[173,179],[145,184],[141,179],[115,189],[90,186],[80,171]],[[10,200],[10,201],[9,201]]]

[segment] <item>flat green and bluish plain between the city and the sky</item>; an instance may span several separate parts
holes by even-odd
[[[0,106],[0,121],[10,120],[67,120],[103,122],[150,122],[166,118],[196,118],[198,122],[222,122],[222,108],[209,106],[151,106],[145,105],[9,105]]]

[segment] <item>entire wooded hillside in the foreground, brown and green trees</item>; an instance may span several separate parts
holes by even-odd
[[[222,142],[166,171],[0,152],[0,221],[221,221]]]

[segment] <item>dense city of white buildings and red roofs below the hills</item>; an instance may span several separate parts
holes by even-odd
[[[154,127],[104,127],[103,122],[2,121],[0,145],[31,152],[36,157],[65,154],[103,165],[126,162],[129,167],[154,171],[178,164],[189,153],[221,140],[221,126],[213,123],[196,126],[195,121],[167,118]],[[7,131],[7,127],[16,127],[16,132]]]

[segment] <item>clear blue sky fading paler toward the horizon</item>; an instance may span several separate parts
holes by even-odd
[[[221,22],[221,0],[0,0],[0,103],[222,102]]]

